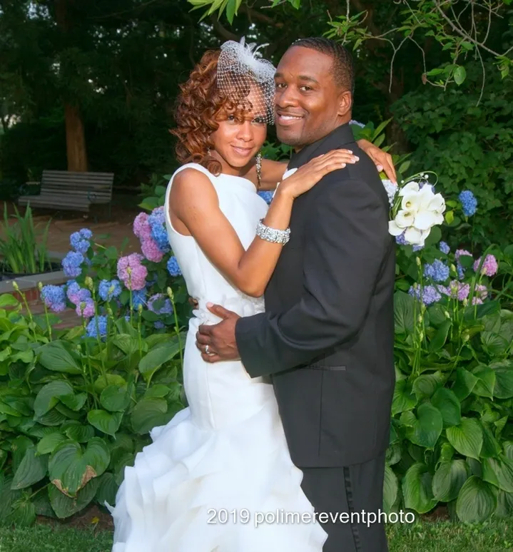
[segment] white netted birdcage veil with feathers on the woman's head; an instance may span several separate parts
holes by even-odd
[[[238,106],[274,124],[276,68],[260,57],[263,46],[268,45],[245,44],[244,37],[240,42],[225,42],[218,59],[217,86]]]

